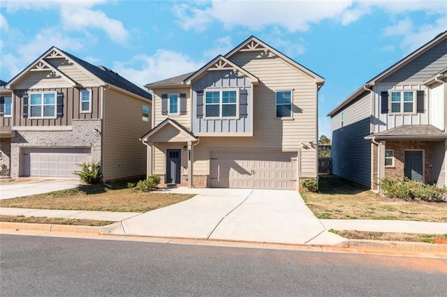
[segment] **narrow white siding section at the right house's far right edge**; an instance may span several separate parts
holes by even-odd
[[[446,128],[446,94],[444,84],[434,84],[428,89],[430,124],[444,130]]]

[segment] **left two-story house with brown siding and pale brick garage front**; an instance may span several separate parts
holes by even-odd
[[[146,173],[139,137],[151,128],[152,96],[103,66],[51,47],[6,85],[12,91],[10,176],[73,177],[80,162],[101,162],[110,181]],[[6,101],[4,101],[6,102]],[[6,110],[8,105],[2,105]],[[8,146],[6,140],[5,146]]]

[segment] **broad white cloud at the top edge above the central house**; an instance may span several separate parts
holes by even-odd
[[[256,3],[255,3],[256,2]],[[203,31],[213,20],[224,26],[247,26],[259,30],[267,25],[279,25],[288,31],[305,31],[310,23],[341,17],[351,1],[211,1],[210,6],[175,6],[183,29]]]

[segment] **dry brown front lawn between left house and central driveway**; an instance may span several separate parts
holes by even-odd
[[[82,185],[79,188],[27,197],[0,200],[1,207],[39,208],[75,211],[122,211],[145,213],[190,199],[194,195],[140,192],[127,188],[126,182]]]

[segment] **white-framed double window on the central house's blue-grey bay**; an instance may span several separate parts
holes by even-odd
[[[205,117],[237,116],[237,91],[205,91]]]

